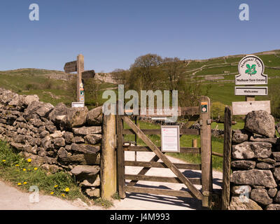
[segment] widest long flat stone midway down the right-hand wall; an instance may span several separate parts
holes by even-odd
[[[276,188],[276,182],[270,170],[249,169],[232,172],[230,182],[239,185],[265,186]]]

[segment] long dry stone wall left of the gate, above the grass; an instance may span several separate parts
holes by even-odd
[[[102,107],[68,108],[0,88],[0,139],[41,169],[76,176],[83,193],[100,195]]]

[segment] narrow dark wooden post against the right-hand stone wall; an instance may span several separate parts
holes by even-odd
[[[222,209],[228,210],[230,205],[230,157],[232,150],[232,111],[229,106],[225,107],[224,130]]]

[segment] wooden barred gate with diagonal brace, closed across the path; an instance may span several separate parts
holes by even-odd
[[[207,105],[204,109],[203,105]],[[156,146],[147,134],[160,134],[160,130],[141,130],[129,116],[116,116],[117,126],[117,169],[118,169],[118,193],[120,198],[125,198],[125,193],[147,193],[153,195],[169,195],[174,197],[194,197],[202,201],[203,207],[209,207],[211,192],[213,190],[212,183],[212,167],[211,167],[211,117],[210,117],[210,100],[209,97],[201,97],[200,106],[192,108],[181,108],[181,115],[199,115],[200,129],[180,129],[180,136],[183,134],[200,135],[200,148],[181,147],[180,153],[200,153],[202,158],[201,164],[177,164],[172,163],[165,153],[162,153],[160,147]],[[130,129],[124,129],[124,123]],[[124,144],[124,135],[135,134],[139,139],[144,141],[146,146],[133,146]],[[125,151],[134,152],[151,152],[155,155],[149,162],[125,161]],[[161,160],[162,162],[158,162]],[[137,175],[125,174],[125,166],[143,167]],[[146,176],[145,174],[152,167],[170,169],[176,177],[164,176]],[[201,178],[189,178],[185,176],[180,169],[201,170]],[[125,184],[125,180],[130,180]],[[172,190],[158,189],[150,187],[136,186],[138,181],[153,181],[164,183],[183,183],[188,190]],[[201,190],[195,185],[201,185]]]

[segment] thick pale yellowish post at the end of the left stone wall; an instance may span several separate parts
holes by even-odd
[[[102,157],[101,157],[101,197],[111,200],[117,191],[116,180],[116,115],[103,117],[102,127]]]

